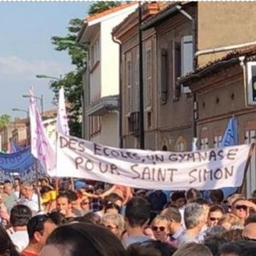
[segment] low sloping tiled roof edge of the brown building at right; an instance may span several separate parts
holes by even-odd
[[[240,62],[239,58],[242,56],[245,56],[245,61],[256,60],[256,45],[232,50],[224,57],[214,60],[213,62],[208,62],[206,65],[196,68],[194,72],[190,72],[181,77],[178,79],[177,84],[195,81],[209,76],[210,74],[213,74],[213,72],[217,72],[223,67],[236,65]]]

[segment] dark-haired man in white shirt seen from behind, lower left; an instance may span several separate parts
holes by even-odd
[[[11,209],[10,222],[12,229],[9,230],[9,236],[20,252],[29,243],[27,224],[31,218],[32,211],[27,206],[14,206]]]

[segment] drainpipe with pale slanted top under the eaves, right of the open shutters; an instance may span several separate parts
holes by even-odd
[[[196,20],[189,15],[189,13],[187,13],[186,11],[184,11],[182,9],[182,7],[180,6],[180,8],[177,8],[177,11],[179,11],[182,15],[184,15],[184,17],[186,17],[188,20],[191,21],[191,27],[192,27],[192,37],[193,37],[193,69],[196,69]],[[196,106],[196,93],[192,93],[192,97],[193,97],[193,123],[192,123],[192,130],[193,130],[193,137],[196,138],[197,137],[197,131],[196,131],[196,118],[197,118],[197,106]]]

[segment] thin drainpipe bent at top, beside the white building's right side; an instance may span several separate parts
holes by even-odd
[[[123,136],[122,136],[122,43],[120,40],[116,39],[112,34],[112,40],[115,43],[119,44],[119,110],[117,111],[117,119],[118,119],[118,130],[119,130],[119,148],[123,148]]]

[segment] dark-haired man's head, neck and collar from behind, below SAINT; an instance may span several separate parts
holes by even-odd
[[[144,235],[144,228],[149,221],[150,204],[140,197],[133,197],[126,206],[125,220],[128,238],[123,239],[123,245],[127,248],[133,243],[142,243],[149,240]]]

